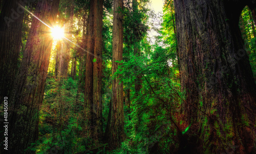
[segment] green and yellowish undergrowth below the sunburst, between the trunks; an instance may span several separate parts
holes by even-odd
[[[90,151],[91,140],[83,126],[83,94],[77,81],[47,79],[39,119],[39,139],[31,145],[36,153],[77,153]]]

